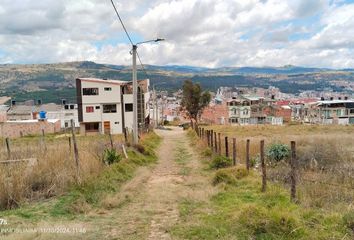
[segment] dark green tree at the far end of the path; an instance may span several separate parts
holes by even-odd
[[[209,105],[210,98],[210,93],[203,92],[199,83],[194,84],[190,80],[184,81],[181,105],[191,119],[198,122],[203,109]]]

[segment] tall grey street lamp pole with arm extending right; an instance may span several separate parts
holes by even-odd
[[[144,42],[138,42],[133,44],[133,141],[137,144],[139,141],[138,137],[138,79],[137,79],[137,69],[136,69],[136,50],[138,45],[150,42],[160,42],[164,41],[163,38],[157,38],[155,40],[148,40]]]

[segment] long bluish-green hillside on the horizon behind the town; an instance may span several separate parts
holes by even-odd
[[[219,86],[279,87],[283,92],[298,93],[302,90],[321,90],[335,86],[333,81],[354,81],[354,70],[284,67],[225,67],[201,68],[190,66],[145,66],[148,75],[139,69],[138,78],[149,77],[156,88],[174,90],[186,79],[200,82],[204,88],[215,90]],[[0,65],[0,96],[10,96],[18,101],[42,99],[43,102],[60,102],[65,98],[75,102],[75,79],[98,77],[131,79],[131,67],[94,62],[57,64]]]

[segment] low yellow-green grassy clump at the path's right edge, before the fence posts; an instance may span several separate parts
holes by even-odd
[[[234,184],[238,179],[248,176],[248,171],[245,168],[232,167],[220,169],[215,173],[213,184],[219,183]]]

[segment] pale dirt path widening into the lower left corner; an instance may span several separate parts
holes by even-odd
[[[202,165],[180,128],[157,130],[162,138],[158,163],[138,169],[119,193],[102,208],[72,221],[41,221],[35,227],[85,228],[79,234],[11,234],[6,239],[172,239],[169,230],[179,219],[179,204],[205,201],[213,194]]]

